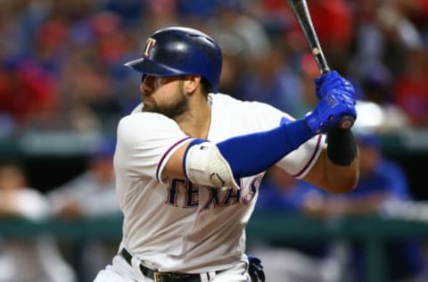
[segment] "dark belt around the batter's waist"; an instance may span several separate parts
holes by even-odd
[[[132,266],[132,254],[127,249],[120,250],[120,255]],[[141,273],[146,278],[151,278],[154,282],[201,282],[200,274],[179,273],[179,272],[159,272],[145,267],[142,263],[139,265]]]

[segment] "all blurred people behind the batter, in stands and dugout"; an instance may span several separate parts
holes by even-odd
[[[386,116],[377,125],[383,129],[428,127],[428,0],[308,2],[330,67],[352,80],[358,100],[366,103],[361,105],[376,106],[358,111],[358,120],[373,121],[374,110],[382,109]],[[317,103],[313,80],[319,71],[284,0],[3,0],[0,138],[27,130],[114,131],[120,117],[140,100],[139,78],[123,63],[141,57],[146,38],[170,25],[202,29],[221,46],[220,92],[273,104],[296,117]],[[359,141],[362,180],[355,193],[325,195],[270,170],[256,212],[297,211],[328,218],[377,213],[391,201],[412,201],[404,172],[384,158],[376,137]],[[19,165],[1,164],[0,215],[37,220],[119,212],[113,150],[111,144],[97,147],[81,175],[46,195],[37,191],[40,187],[29,187]],[[0,240],[0,281],[91,281],[117,251],[116,244],[99,243],[77,242],[64,261],[49,236],[25,245]],[[273,281],[364,281],[339,273],[364,275],[358,246],[337,248],[333,242],[334,250],[342,251],[331,255],[330,243],[303,250],[268,242],[280,253],[268,252],[266,246],[259,253],[268,252],[263,259]],[[424,253],[416,252],[415,244],[419,251],[423,247],[419,242],[398,244],[407,250],[389,261],[391,270],[397,270],[391,281],[426,281]],[[408,259],[408,266],[397,268],[404,256],[416,257],[415,262]],[[352,261],[353,268],[344,261]],[[22,265],[33,269],[20,272]]]

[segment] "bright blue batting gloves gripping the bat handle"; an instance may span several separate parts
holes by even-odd
[[[342,116],[357,119],[355,110],[355,90],[352,84],[337,72],[330,71],[316,80],[317,107],[305,116],[305,121],[313,134],[323,133],[339,125]]]

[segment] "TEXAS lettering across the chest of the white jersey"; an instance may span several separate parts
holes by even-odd
[[[194,185],[188,180],[175,178],[169,184],[165,203],[183,208],[192,208],[201,204],[202,211],[210,208],[227,207],[238,203],[248,205],[256,196],[262,177],[260,175],[252,179],[248,189],[244,189],[240,179],[238,183],[241,189],[239,190],[235,188],[218,189],[216,187]],[[209,197],[203,203],[200,203],[200,189],[207,189],[209,192]]]

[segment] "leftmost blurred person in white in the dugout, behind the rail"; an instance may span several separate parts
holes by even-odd
[[[50,214],[44,195],[27,186],[19,166],[0,165],[0,217],[44,220]],[[50,236],[0,239],[1,282],[74,282],[75,274]]]

